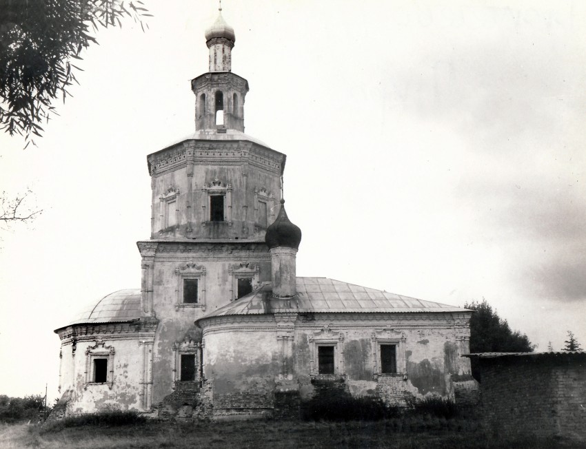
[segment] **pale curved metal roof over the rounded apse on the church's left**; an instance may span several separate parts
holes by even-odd
[[[66,326],[129,322],[141,317],[141,289],[125,289],[110,293],[85,307]]]

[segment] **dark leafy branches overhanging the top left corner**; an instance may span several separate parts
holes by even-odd
[[[140,0],[0,0],[0,129],[26,145],[41,136],[52,101],[77,83],[72,59],[97,43],[90,32],[150,15]]]

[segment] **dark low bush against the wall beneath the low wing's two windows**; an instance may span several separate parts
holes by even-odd
[[[310,399],[302,403],[302,410],[307,421],[376,421],[398,415],[398,408],[373,397]]]

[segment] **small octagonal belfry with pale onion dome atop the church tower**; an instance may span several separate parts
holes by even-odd
[[[191,82],[195,95],[195,129],[225,132],[236,129],[244,132],[244,98],[248,82],[233,74],[232,48],[236,36],[222,17],[205,31],[205,43],[210,49],[210,70]]]

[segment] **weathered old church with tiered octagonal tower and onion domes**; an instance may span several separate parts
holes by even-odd
[[[235,41],[220,12],[205,32],[209,71],[191,81],[194,134],[147,156],[141,289],[55,331],[65,414],[279,417],[325,390],[405,405],[471,388],[471,311],[296,276],[285,154],[244,133]]]

